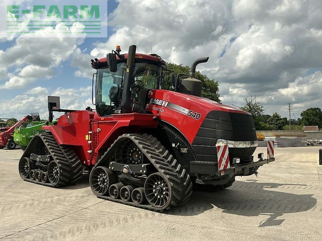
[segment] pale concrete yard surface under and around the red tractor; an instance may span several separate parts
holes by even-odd
[[[219,192],[194,190],[190,201],[163,213],[96,198],[88,175],[59,189],[25,182],[22,151],[3,149],[0,241],[322,240],[319,148],[275,148],[276,161],[258,177],[237,177]]]

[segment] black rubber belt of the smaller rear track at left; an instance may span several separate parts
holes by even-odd
[[[20,175],[21,178],[28,182],[50,187],[60,187],[77,183],[81,179],[83,172],[83,166],[81,164],[80,159],[78,158],[74,150],[70,147],[58,145],[51,133],[40,133],[35,135],[28,147],[26,148],[26,150],[24,151],[24,154],[22,155],[20,160],[23,157],[30,157],[30,154],[32,154],[33,151],[33,142],[39,141],[39,139],[37,138],[40,138],[43,141],[52,158],[58,162],[61,170],[60,180],[58,183],[52,184],[43,183],[41,181],[37,182],[28,178],[24,178]]]

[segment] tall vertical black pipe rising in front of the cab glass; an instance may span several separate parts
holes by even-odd
[[[147,113],[141,105],[134,104],[131,102],[131,83],[134,81],[134,67],[135,67],[135,53],[137,50],[136,45],[131,45],[128,48],[128,60],[127,60],[127,67],[124,76],[124,83],[123,83],[123,93],[122,93],[122,103],[121,103],[121,113],[127,112],[137,112],[140,114]]]

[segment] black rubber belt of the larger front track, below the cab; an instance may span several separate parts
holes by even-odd
[[[150,209],[150,210],[168,210],[171,207],[178,206],[189,200],[192,194],[192,182],[190,175],[177,162],[177,160],[170,155],[164,146],[152,135],[147,134],[124,134],[120,136],[105,154],[100,158],[96,166],[108,166],[109,161],[113,157],[115,148],[119,141],[124,138],[131,139],[149,161],[155,166],[156,170],[166,179],[171,187],[171,198],[166,206],[161,208],[153,207],[150,204],[135,204],[130,201],[122,201],[120,199],[112,199],[109,196],[97,195],[99,198],[116,201],[135,207]],[[95,167],[94,167],[95,168]],[[94,169],[93,168],[93,169]]]

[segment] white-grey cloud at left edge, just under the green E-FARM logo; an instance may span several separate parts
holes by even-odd
[[[0,73],[6,68],[17,67],[21,70],[16,73],[9,73],[8,79],[0,85],[0,89],[22,88],[35,82],[37,79],[50,79],[55,75],[55,67],[62,61],[68,59],[77,49],[84,38],[76,38],[74,33],[76,28],[84,27],[81,23],[74,23],[69,29],[63,23],[59,23],[55,28],[47,27],[36,31],[37,38],[27,38],[20,36],[16,38],[15,44],[0,51]],[[58,29],[64,28],[71,31],[71,36],[75,38],[64,38]],[[49,32],[55,32],[55,38],[48,38]],[[5,73],[4,73],[5,74]]]

